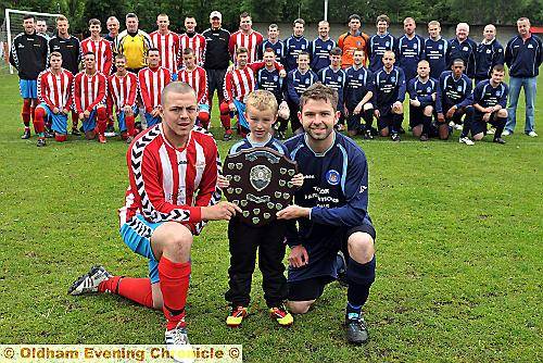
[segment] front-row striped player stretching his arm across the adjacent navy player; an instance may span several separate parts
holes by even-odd
[[[249,124],[245,120],[245,97],[254,90],[256,85],[255,72],[263,68],[265,62],[253,62],[248,64],[249,51],[244,47],[236,50],[236,67],[229,70],[225,76],[225,100],[220,103],[220,123],[225,128],[223,139],[228,141],[232,136],[231,118],[238,115],[238,133],[243,137],[249,133]],[[274,66],[279,71],[279,76],[285,77],[287,73],[281,64],[274,61]]]

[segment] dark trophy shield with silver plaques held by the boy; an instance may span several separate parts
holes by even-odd
[[[251,148],[226,157],[223,175],[230,185],[223,189],[226,199],[242,211],[241,221],[264,226],[276,213],[291,204],[292,177],[296,163],[269,148]]]

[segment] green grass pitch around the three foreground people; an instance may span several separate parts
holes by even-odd
[[[161,312],[115,296],[66,296],[96,263],[147,275],[117,233],[126,145],[72,138],[38,149],[36,138],[20,139],[20,107],[16,77],[1,75],[0,343],[161,343]],[[542,361],[543,136],[522,135],[519,111],[505,146],[466,147],[458,132],[449,142],[362,142],[378,233],[368,345],[345,343],[338,284],[291,329],[277,327],[260,273],[247,324],[228,329],[227,224],[217,222],[193,245],[191,341],[243,345],[248,362]],[[217,120],[213,129],[222,136]],[[218,146],[224,155],[228,145]]]

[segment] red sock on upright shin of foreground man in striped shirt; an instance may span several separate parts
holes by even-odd
[[[189,290],[190,262],[172,262],[164,255],[159,262],[159,277],[164,300],[166,329],[171,330],[185,317],[185,303]]]

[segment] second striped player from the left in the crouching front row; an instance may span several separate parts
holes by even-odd
[[[83,55],[83,64],[84,70],[74,78],[74,108],[83,123],[85,137],[91,140],[98,133],[98,141],[105,143],[108,78],[97,70],[93,52]]]

